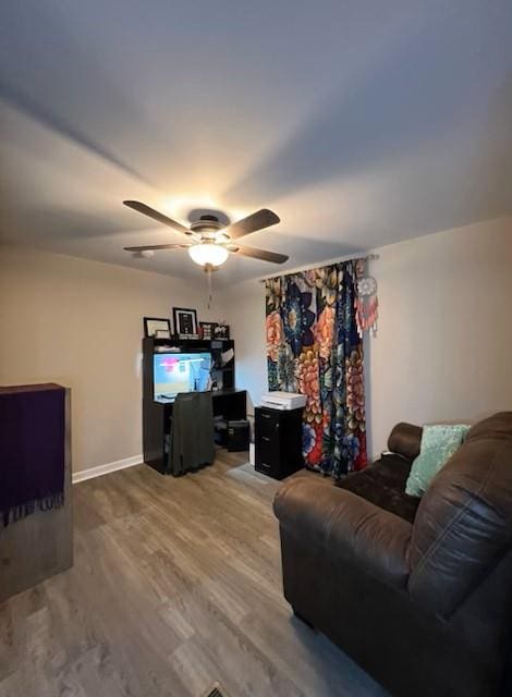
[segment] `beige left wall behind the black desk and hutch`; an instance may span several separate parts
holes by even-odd
[[[34,250],[0,250],[0,384],[72,390],[73,469],[142,453],[144,316],[205,311],[206,284]]]

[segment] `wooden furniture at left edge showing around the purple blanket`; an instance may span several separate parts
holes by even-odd
[[[32,386],[35,390],[46,386]],[[51,386],[48,386],[51,388]],[[20,388],[2,388],[3,396]],[[26,388],[22,388],[26,390]],[[4,405],[4,408],[9,408]],[[0,528],[0,602],[73,565],[71,394],[65,390],[64,504]],[[21,425],[23,430],[24,426]],[[29,432],[31,423],[26,424]],[[44,447],[44,443],[40,443]],[[3,463],[10,466],[12,463]],[[37,462],[34,463],[37,466]],[[0,477],[1,478],[1,477]]]

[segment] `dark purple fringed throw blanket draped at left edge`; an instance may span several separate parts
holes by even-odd
[[[63,504],[65,390],[0,388],[0,521]],[[1,523],[0,523],[1,525]]]

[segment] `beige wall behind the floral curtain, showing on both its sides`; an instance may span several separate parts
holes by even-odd
[[[376,250],[378,335],[366,342],[369,452],[399,420],[473,420],[512,408],[512,218]],[[265,290],[232,289],[239,387],[267,389]]]

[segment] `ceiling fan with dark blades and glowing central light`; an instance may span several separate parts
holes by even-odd
[[[188,237],[188,242],[178,244],[124,247],[126,252],[145,253],[157,252],[159,249],[188,249],[193,261],[202,266],[205,271],[218,269],[219,266],[228,259],[230,253],[252,257],[253,259],[261,259],[263,261],[270,261],[272,264],[284,264],[284,261],[289,259],[285,254],[246,247],[235,242],[244,235],[264,230],[264,228],[269,228],[280,221],[279,217],[268,208],[261,208],[255,213],[247,216],[247,218],[243,218],[228,227],[224,227],[216,216],[202,216],[200,219],[192,223],[188,229],[138,200],[124,200],[123,204]]]

